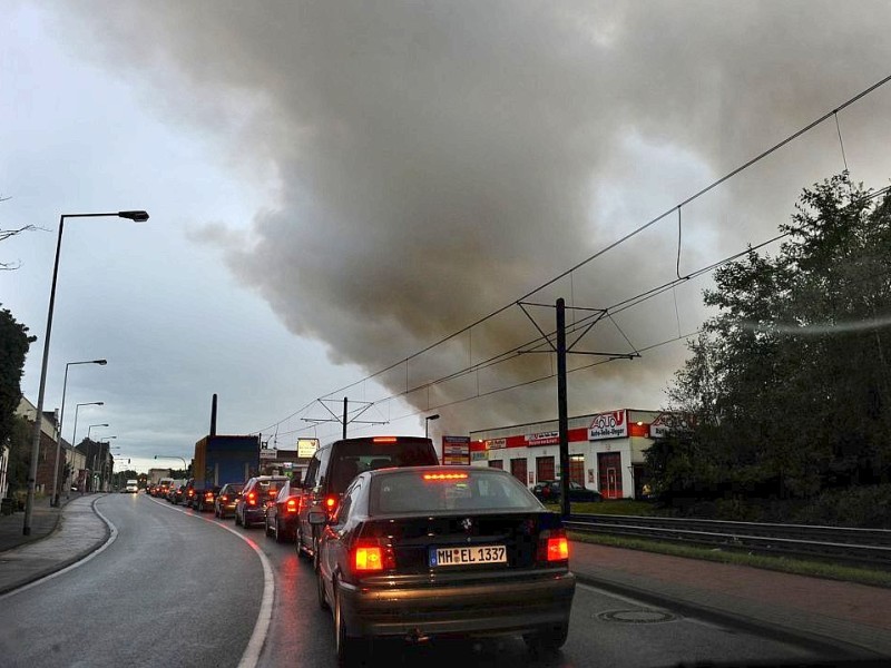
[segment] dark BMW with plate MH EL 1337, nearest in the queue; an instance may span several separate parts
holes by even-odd
[[[521,633],[539,651],[566,642],[576,587],[566,531],[505,471],[361,473],[334,517],[313,510],[310,521],[341,662],[374,638]]]

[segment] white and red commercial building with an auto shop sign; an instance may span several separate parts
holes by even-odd
[[[569,419],[569,479],[606,499],[640,498],[645,452],[663,435],[665,413],[619,409]],[[560,478],[556,420],[470,432],[471,465],[510,471],[532,487]]]

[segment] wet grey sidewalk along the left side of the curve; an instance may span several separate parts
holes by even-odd
[[[99,549],[110,530],[92,504],[104,495],[71,495],[62,499],[61,508],[50,508],[49,499],[38,500],[30,536],[22,536],[23,512],[0,515],[0,596]]]

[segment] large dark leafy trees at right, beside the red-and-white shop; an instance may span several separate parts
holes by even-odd
[[[654,451],[664,490],[807,497],[891,474],[891,197],[845,173],[780,228],[776,257],[750,252],[704,293],[718,312],[669,389],[698,428]]]

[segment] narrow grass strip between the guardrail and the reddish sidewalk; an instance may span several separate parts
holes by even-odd
[[[843,582],[856,582],[859,584],[869,584],[870,587],[884,587],[891,589],[891,572],[884,570],[874,570],[855,566],[838,566],[822,561],[789,559],[786,557],[766,557],[764,554],[747,554],[745,552],[733,551],[725,552],[724,550],[715,548],[679,546],[676,543],[659,542],[639,538],[580,533],[577,531],[568,531],[567,534],[571,540],[595,543],[610,548],[644,550],[646,552],[669,554],[672,557],[683,557],[685,559],[703,559],[705,561],[717,561],[719,563],[750,566],[753,568],[793,573],[796,576],[810,576],[812,578],[840,580]]]

